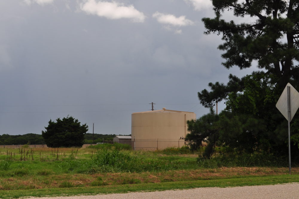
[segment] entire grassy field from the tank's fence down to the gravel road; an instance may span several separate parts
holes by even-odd
[[[0,149],[0,198],[30,196],[31,189],[45,196],[298,182],[298,168],[292,176],[286,167],[215,168],[184,148],[150,152],[111,146]]]

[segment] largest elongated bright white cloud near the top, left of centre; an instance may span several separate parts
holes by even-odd
[[[124,6],[124,4],[112,1],[88,0],[80,4],[81,10],[88,14],[103,16],[107,19],[128,18],[134,22],[144,22],[145,16],[142,12],[135,9],[133,5]]]

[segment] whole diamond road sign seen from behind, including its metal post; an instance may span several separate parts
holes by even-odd
[[[290,138],[290,122],[299,108],[299,93],[288,83],[283,90],[280,98],[276,103],[276,108],[288,120],[288,136],[289,136],[289,174],[291,175],[291,138]]]

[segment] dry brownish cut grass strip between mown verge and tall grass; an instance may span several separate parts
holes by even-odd
[[[175,181],[209,180],[250,176],[271,176],[288,173],[288,168],[235,167],[217,169],[179,170],[143,173],[106,174],[49,174],[48,176],[10,177],[0,180],[0,190],[48,189],[58,187],[89,187],[103,185],[160,183]],[[292,168],[292,174],[299,174],[299,168]]]

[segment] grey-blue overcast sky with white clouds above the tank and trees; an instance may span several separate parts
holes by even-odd
[[[0,135],[68,115],[127,135],[151,102],[206,114],[198,91],[254,70],[221,65],[221,36],[201,22],[213,16],[208,0],[0,1]]]

